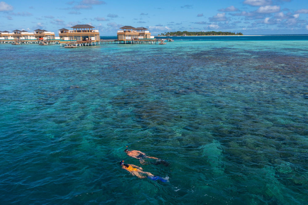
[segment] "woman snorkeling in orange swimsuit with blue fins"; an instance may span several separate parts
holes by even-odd
[[[129,171],[132,175],[134,175],[134,176],[136,176],[140,179],[149,178],[149,179],[152,179],[153,181],[158,179],[162,182],[167,182],[168,179],[169,179],[169,177],[162,178],[160,176],[154,176],[150,172],[143,171],[142,167],[138,167],[138,166],[133,165],[133,164],[125,164],[124,160],[122,162],[120,162],[120,166],[122,167],[122,169]],[[145,175],[147,175],[147,176],[145,176]]]

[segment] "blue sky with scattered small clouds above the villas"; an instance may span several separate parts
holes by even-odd
[[[147,27],[154,35],[177,30],[308,34],[308,1],[0,0],[2,31],[40,28],[58,36],[59,29],[76,24],[93,25],[101,36],[114,36],[121,26]]]

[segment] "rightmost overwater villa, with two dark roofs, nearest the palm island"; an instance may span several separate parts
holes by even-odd
[[[155,40],[154,36],[151,36],[150,31],[144,27],[132,27],[132,26],[123,26],[118,30],[117,36],[118,41],[142,41],[142,40]]]

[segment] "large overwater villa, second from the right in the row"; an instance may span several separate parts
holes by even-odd
[[[87,24],[71,27],[73,30],[65,28],[59,29],[59,37],[64,41],[91,41],[99,42],[99,31],[93,30],[94,26]]]

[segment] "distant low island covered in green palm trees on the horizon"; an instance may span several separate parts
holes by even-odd
[[[222,31],[173,31],[165,32],[164,34],[158,34],[159,36],[234,36],[234,35],[243,35],[241,32],[222,32]]]

